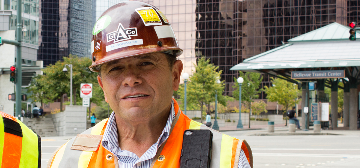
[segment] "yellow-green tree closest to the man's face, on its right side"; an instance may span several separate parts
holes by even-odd
[[[216,81],[220,79],[222,72],[217,72],[218,68],[219,67],[210,64],[210,59],[206,59],[204,56],[198,59],[195,72],[189,77],[188,84],[186,85],[186,109],[200,108],[203,113],[204,106],[210,107],[210,103],[215,101],[216,91],[219,103],[226,105],[226,98],[222,96],[225,88],[224,84],[222,82],[220,84],[216,83]],[[184,85],[180,86],[176,94],[180,95],[180,101],[184,102]],[[183,104],[181,106],[184,107]],[[207,109],[210,110],[210,108]]]

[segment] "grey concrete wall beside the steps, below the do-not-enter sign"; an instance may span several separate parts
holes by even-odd
[[[77,135],[86,130],[86,107],[67,105],[64,113],[66,135]]]

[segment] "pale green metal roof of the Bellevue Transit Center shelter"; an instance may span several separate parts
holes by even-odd
[[[245,59],[230,70],[360,66],[360,33],[356,32],[358,41],[350,41],[349,31],[349,27],[332,23]]]

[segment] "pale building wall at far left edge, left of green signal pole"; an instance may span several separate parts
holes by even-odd
[[[15,31],[0,31],[0,37],[6,40],[15,40]],[[3,44],[0,46],[0,110],[14,115],[14,101],[8,100],[8,95],[14,93],[15,85],[10,82],[10,66],[15,64],[15,46]],[[6,74],[1,71],[6,68]]]

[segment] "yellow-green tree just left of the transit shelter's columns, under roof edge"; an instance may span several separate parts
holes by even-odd
[[[285,112],[289,109],[289,107],[298,103],[299,100],[297,98],[299,90],[297,89],[296,84],[280,78],[274,79],[271,77],[271,80],[273,81],[273,87],[264,87],[265,93],[267,94],[267,100],[278,102],[278,104],[285,108]]]

